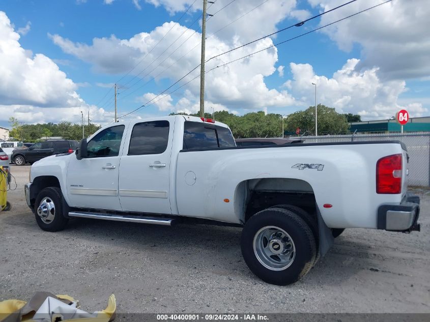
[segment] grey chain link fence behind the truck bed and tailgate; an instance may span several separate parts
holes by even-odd
[[[359,142],[398,140],[406,144],[409,154],[409,185],[430,187],[430,132],[388,133],[388,134],[348,134],[291,136],[304,139],[304,143]]]

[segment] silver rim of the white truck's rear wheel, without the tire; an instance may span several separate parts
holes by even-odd
[[[255,233],[254,254],[260,264],[272,271],[289,268],[296,257],[296,247],[291,236],[276,226],[266,226]]]

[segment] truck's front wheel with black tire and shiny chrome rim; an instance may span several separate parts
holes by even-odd
[[[63,195],[57,187],[39,192],[35,202],[35,216],[39,227],[45,231],[64,229],[68,219],[63,216]]]

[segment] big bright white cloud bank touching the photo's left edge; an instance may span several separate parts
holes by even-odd
[[[79,122],[77,111],[94,110],[105,122],[104,110],[85,103],[79,85],[47,56],[25,50],[7,15],[0,11],[0,120],[15,116],[20,122]]]

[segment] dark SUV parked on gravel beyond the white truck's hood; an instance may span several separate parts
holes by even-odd
[[[16,165],[24,165],[25,163],[33,164],[42,158],[54,154],[72,153],[77,147],[78,142],[71,140],[47,140],[37,142],[28,149],[14,150],[11,161]]]

